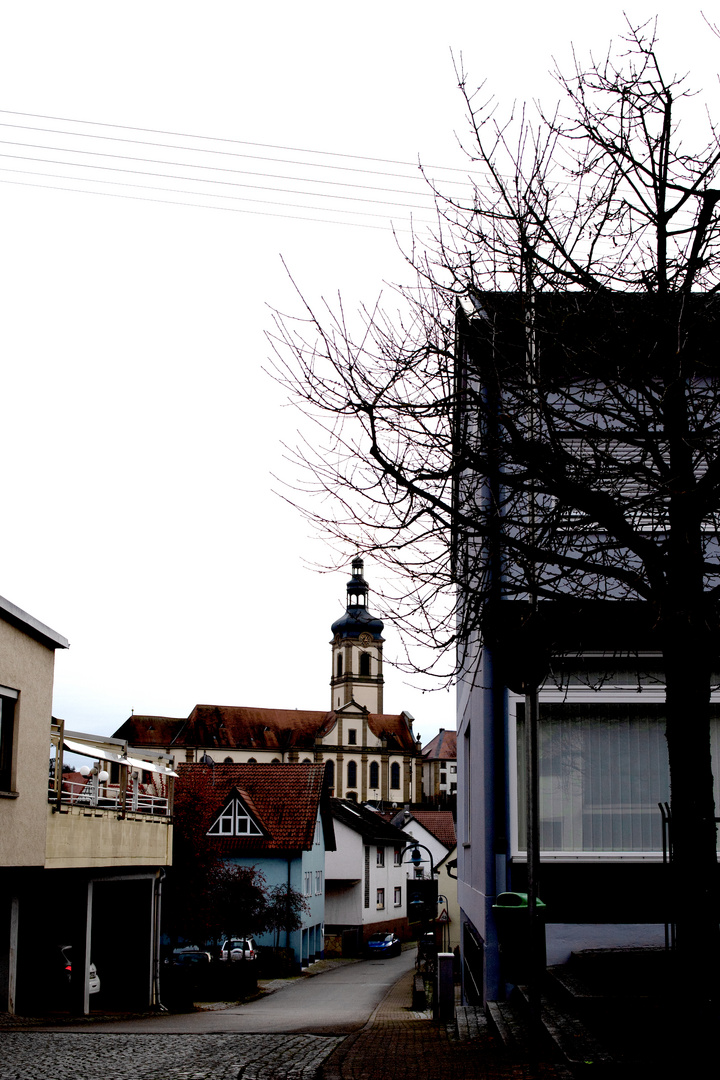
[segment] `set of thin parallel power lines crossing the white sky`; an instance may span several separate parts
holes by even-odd
[[[40,113],[21,113],[8,109],[0,109],[0,117],[2,116],[27,117],[31,120],[44,121],[45,124],[23,124],[0,120],[0,127],[5,129],[9,135],[11,131],[15,135],[15,137],[0,139],[0,147],[12,147],[12,150],[0,149],[0,159],[8,162],[27,161],[33,165],[49,165],[53,170],[64,170],[64,172],[57,173],[55,171],[13,168],[10,165],[0,166],[0,171],[13,173],[16,177],[33,177],[32,181],[17,178],[12,181],[5,179],[3,183],[87,192],[93,192],[96,188],[101,187],[103,190],[95,193],[106,197],[117,194],[121,198],[130,198],[128,190],[132,189],[139,192],[157,190],[166,192],[171,198],[153,198],[152,201],[168,202],[175,205],[232,208],[241,213],[254,213],[254,211],[249,206],[228,207],[226,203],[243,202],[256,206],[274,205],[294,212],[281,216],[297,217],[296,211],[305,211],[325,215],[321,218],[313,217],[312,220],[359,226],[367,222],[358,219],[376,218],[378,221],[384,220],[385,225],[373,226],[375,228],[388,228],[392,225],[398,231],[412,228],[410,224],[412,212],[422,214],[424,211],[423,217],[425,217],[429,212],[432,214],[435,210],[435,192],[418,163],[363,154],[344,154],[334,150],[304,150],[299,147],[273,146],[242,139],[131,127],[123,124],[104,124],[96,121]],[[78,132],[67,127],[47,126],[50,123],[82,125],[93,130]],[[108,131],[122,132],[123,134],[108,134]],[[23,132],[52,135],[54,138],[46,141],[22,141]],[[155,139],[137,138],[133,133],[159,137]],[[161,141],[161,137],[190,141],[167,143]],[[82,139],[85,145],[79,147],[78,139]],[[202,145],[192,145],[192,143],[201,143]],[[269,154],[248,153],[242,149],[218,149],[208,146],[210,143],[220,143],[226,147],[250,147],[280,153],[289,152],[305,156],[305,158],[270,157]],[[135,148],[138,148],[135,152],[127,152]],[[139,148],[152,149],[155,153],[142,154],[142,150]],[[163,151],[167,153],[163,156]],[[47,154],[52,154],[52,157]],[[308,156],[311,158],[320,157],[322,160],[307,160]],[[328,158],[334,158],[335,162],[327,161]],[[245,163],[255,165],[259,162],[272,163],[275,170],[243,167]],[[412,172],[366,168],[358,164],[361,162],[385,164],[404,170],[410,168]],[[284,166],[291,166],[291,171]],[[462,170],[451,166],[434,167],[443,168],[448,173],[462,172]],[[100,174],[103,175],[100,176]],[[42,185],[38,183],[41,177],[53,181],[65,180],[72,187],[57,184]],[[160,180],[161,184],[152,186],[140,183],[139,179],[134,180],[133,177],[151,178]],[[400,180],[404,184],[393,185],[386,183],[388,179],[391,181]],[[163,181],[166,181],[167,186]],[[459,186],[462,181],[453,178],[446,183]],[[177,188],[175,186],[177,184],[189,185],[189,188]],[[112,191],[112,188],[118,190]],[[467,195],[462,202],[472,203],[473,188],[470,179],[464,181],[464,188]],[[244,193],[235,193],[240,191]],[[252,191],[257,191],[258,195],[252,195]],[[260,193],[273,198],[266,199]],[[178,203],[172,198],[176,194],[194,197],[198,201]],[[283,200],[283,195],[288,198]],[[141,194],[137,198],[145,199]],[[298,202],[298,199],[304,200],[304,202]],[[377,210],[371,211],[370,206],[375,206]],[[267,214],[263,211],[258,211],[258,213]],[[274,213],[273,216],[275,216]],[[412,224],[417,227],[434,222],[415,218]]]

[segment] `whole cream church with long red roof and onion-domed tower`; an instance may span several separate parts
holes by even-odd
[[[419,802],[422,751],[409,713],[383,713],[383,623],[353,559],[345,613],[332,623],[327,711],[195,705],[187,718],[131,716],[116,737],[188,762],[326,764],[329,787],[356,802]]]

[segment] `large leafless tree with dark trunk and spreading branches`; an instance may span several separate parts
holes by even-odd
[[[410,253],[397,310],[279,315],[276,373],[322,433],[296,450],[305,511],[400,571],[385,599],[410,642],[437,656],[481,646],[506,597],[647,604],[664,659],[678,945],[707,1000],[720,139],[707,120],[685,151],[692,95],[664,76],[652,27],[556,78],[556,112],[502,124],[459,71],[473,205],[436,192],[435,243]],[[536,660],[541,636],[528,640]]]

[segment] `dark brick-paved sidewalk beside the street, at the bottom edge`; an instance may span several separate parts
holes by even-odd
[[[410,1009],[415,972],[403,976],[362,1031],[322,1066],[322,1080],[556,1080],[552,1063],[531,1066],[487,1032],[458,1041],[429,1013]]]

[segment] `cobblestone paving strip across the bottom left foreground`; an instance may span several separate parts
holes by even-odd
[[[0,1080],[312,1080],[341,1038],[0,1034]]]

